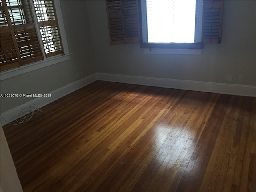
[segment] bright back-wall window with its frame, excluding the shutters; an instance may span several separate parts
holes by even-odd
[[[202,49],[202,1],[141,1],[141,48]]]

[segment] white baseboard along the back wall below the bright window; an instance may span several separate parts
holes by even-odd
[[[256,86],[98,73],[98,80],[256,97]]]

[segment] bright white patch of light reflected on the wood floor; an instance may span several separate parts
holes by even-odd
[[[154,142],[154,151],[156,156],[152,160],[160,164],[158,172],[167,171],[170,174],[176,174],[176,168],[186,168],[192,154],[189,150],[195,147],[194,138],[196,132],[188,127],[171,127],[166,124],[154,128],[156,139]],[[185,158],[186,157],[186,158]],[[183,166],[182,166],[183,165]],[[184,171],[184,170],[183,170]]]

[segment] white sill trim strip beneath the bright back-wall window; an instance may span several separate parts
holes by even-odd
[[[144,54],[201,55],[202,49],[143,49]]]

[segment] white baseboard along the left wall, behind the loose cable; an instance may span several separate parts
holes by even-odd
[[[19,114],[21,112],[21,110],[23,110],[24,108],[30,107],[30,106],[34,106],[36,108],[41,108],[43,106],[46,106],[47,104],[50,104],[52,102],[54,102],[55,100],[64,97],[67,94],[70,94],[94,81],[97,80],[97,76],[96,74],[92,74],[90,76],[87,76],[85,78],[82,78],[78,81],[72,82],[64,87],[58,88],[52,92],[50,92],[49,94],[52,95],[52,97],[38,97],[35,98],[29,102],[26,102],[20,106],[17,106],[16,108],[13,108],[11,110],[8,110],[4,113],[2,113],[1,115],[4,117],[4,119],[8,122],[12,122],[13,120],[16,120],[17,118],[19,118]],[[4,126],[7,124],[7,122],[1,117],[1,125]]]

